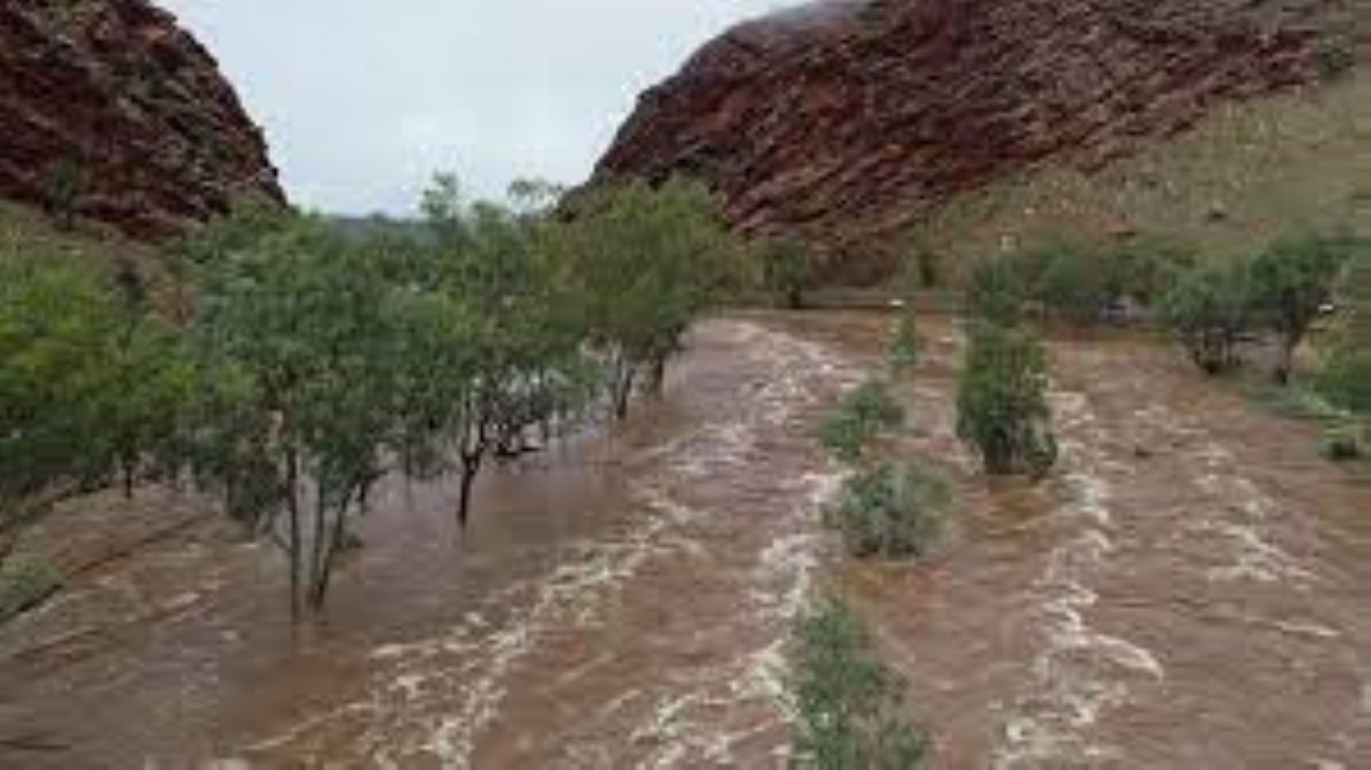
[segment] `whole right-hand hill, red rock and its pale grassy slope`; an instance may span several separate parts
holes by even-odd
[[[644,93],[598,178],[699,177],[740,232],[803,237],[838,284],[887,278],[914,229],[957,259],[968,236],[995,249],[1047,227],[1175,226],[1231,248],[1270,229],[1249,216],[1349,207],[1371,153],[1356,5],[812,3]]]

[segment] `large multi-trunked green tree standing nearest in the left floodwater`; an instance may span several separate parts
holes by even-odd
[[[288,555],[293,610],[322,607],[348,517],[380,473],[396,392],[393,290],[383,260],[313,218],[206,264],[197,358],[232,382],[213,393],[230,408],[200,410],[208,423],[192,456],[211,458],[197,470],[223,474],[232,501],[260,506],[254,518]]]

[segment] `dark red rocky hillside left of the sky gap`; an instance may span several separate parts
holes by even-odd
[[[0,3],[0,196],[158,238],[284,200],[214,58],[144,0]]]

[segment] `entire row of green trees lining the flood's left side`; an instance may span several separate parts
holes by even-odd
[[[440,177],[422,227],[362,234],[247,207],[175,249],[195,296],[181,323],[137,281],[7,255],[0,499],[193,480],[282,547],[292,608],[322,606],[387,475],[455,477],[465,525],[483,467],[627,415],[747,277],[683,179],[606,185],[555,215],[547,185],[511,199],[468,201]]]

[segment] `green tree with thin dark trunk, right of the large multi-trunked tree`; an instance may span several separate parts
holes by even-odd
[[[407,358],[404,445],[455,455],[465,525],[487,460],[522,454],[535,429],[547,438],[574,423],[600,378],[584,355],[581,306],[555,262],[561,230],[529,212],[468,206],[457,190],[440,178],[426,196],[430,290],[410,297],[418,315],[406,325],[409,344],[426,352]]]

